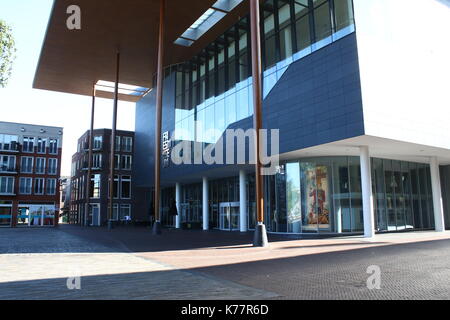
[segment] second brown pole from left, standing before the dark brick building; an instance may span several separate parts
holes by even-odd
[[[114,212],[114,158],[116,151],[116,129],[117,129],[117,104],[119,102],[119,71],[120,71],[120,52],[117,50],[116,56],[116,83],[114,88],[114,108],[113,123],[111,130],[111,154],[109,158],[109,208],[108,208],[108,229],[113,228]]]

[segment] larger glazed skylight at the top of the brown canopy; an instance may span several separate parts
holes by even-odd
[[[175,41],[175,44],[190,47],[200,39],[209,29],[223,19],[243,0],[218,0],[206,10],[185,32]]]

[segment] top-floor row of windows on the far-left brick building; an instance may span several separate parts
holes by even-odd
[[[19,137],[0,134],[0,151],[19,151]],[[22,152],[58,154],[58,139],[24,136]]]

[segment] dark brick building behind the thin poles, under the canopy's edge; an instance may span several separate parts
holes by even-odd
[[[112,220],[124,221],[132,214],[136,197],[132,191],[134,132],[116,133],[114,205]],[[72,156],[72,177],[70,179],[69,223],[83,226],[102,226],[108,221],[109,173],[111,154],[111,130],[96,129],[93,134],[92,174],[90,197],[86,201],[89,160],[89,131],[78,139],[77,153]],[[86,206],[89,204],[88,214]]]

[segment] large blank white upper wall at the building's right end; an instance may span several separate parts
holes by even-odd
[[[366,134],[450,149],[450,1],[354,6]]]

